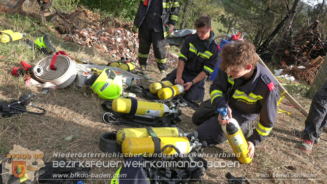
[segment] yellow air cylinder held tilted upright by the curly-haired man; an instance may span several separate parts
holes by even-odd
[[[249,153],[248,145],[238,122],[232,118],[229,124],[221,125],[221,127],[234,153],[237,155],[238,161],[243,164],[250,163],[252,158],[247,155],[247,153]]]

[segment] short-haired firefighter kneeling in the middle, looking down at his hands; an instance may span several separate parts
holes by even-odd
[[[211,19],[201,16],[195,21],[197,33],[189,35],[180,50],[177,69],[162,79],[184,86],[184,98],[202,101],[205,78],[218,61],[218,44],[211,27]]]

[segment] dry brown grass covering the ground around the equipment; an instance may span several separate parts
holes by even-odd
[[[3,17],[0,22],[8,22]],[[10,21],[9,21],[10,22]],[[7,27],[10,28],[10,23]],[[5,27],[5,28],[7,28]],[[21,30],[23,28],[17,27]],[[18,29],[18,30],[19,30]],[[50,30],[48,30],[50,31]],[[39,34],[34,31],[31,38]],[[64,50],[73,58],[88,58],[96,64],[105,65],[108,58],[101,56],[94,50],[83,49],[76,44],[64,43],[54,38],[54,43],[59,50]],[[22,51],[23,50],[23,51]],[[27,53],[27,54],[23,54]],[[29,91],[38,94],[34,103],[45,108],[48,113],[43,116],[24,114],[12,118],[0,118],[0,157],[13,148],[14,144],[21,145],[30,150],[39,149],[45,154],[44,161],[55,160],[54,152],[60,153],[102,153],[98,148],[99,137],[104,132],[118,130],[127,126],[108,125],[102,123],[101,109],[103,100],[99,99],[88,88],[80,88],[74,84],[51,94],[41,94],[37,88],[26,88],[23,77],[13,77],[10,74],[11,68],[19,66],[19,61],[41,60],[44,56],[26,49],[22,42],[2,44],[0,46],[0,98],[9,100],[17,99],[20,95]],[[33,63],[32,63],[33,64]],[[172,71],[176,65],[171,65]],[[149,65],[149,77],[160,80],[161,75],[155,65]],[[149,87],[150,82],[143,80],[141,85]],[[206,96],[209,98],[210,82],[206,82]],[[294,95],[297,101],[306,109],[309,109],[311,99]],[[142,98],[138,95],[138,98]],[[143,99],[143,98],[142,98]],[[284,99],[286,102],[286,99]],[[204,184],[227,183],[225,174],[231,172],[236,177],[245,176],[251,184],[324,184],[327,177],[327,139],[326,132],[323,133],[319,146],[315,146],[313,153],[308,154],[298,149],[300,139],[290,133],[292,128],[303,129],[303,115],[294,108],[281,104],[280,109],[291,113],[278,114],[275,127],[267,139],[259,144],[255,151],[255,157],[250,164],[239,165],[232,168],[209,168],[204,177]],[[30,109],[33,110],[33,109]],[[192,123],[194,110],[182,108],[182,121],[179,127],[184,131],[195,130]],[[71,140],[65,140],[72,136]],[[204,153],[232,153],[228,143],[209,147]],[[74,158],[75,160],[123,160],[122,158]],[[207,157],[209,161],[236,161],[236,158],[228,157]],[[118,168],[92,168],[92,173],[114,174]],[[273,177],[276,174],[304,175],[317,174],[317,177]],[[291,180],[290,180],[291,179]],[[110,180],[89,180],[88,184],[109,184]]]

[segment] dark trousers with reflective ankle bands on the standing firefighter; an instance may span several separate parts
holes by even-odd
[[[150,13],[146,16],[139,28],[139,63],[140,65],[148,64],[150,46],[152,43],[155,61],[159,70],[167,70],[166,60],[166,39],[164,38],[162,20]]]

